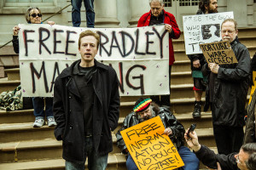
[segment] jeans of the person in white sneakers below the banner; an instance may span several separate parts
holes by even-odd
[[[44,119],[44,98],[35,97],[32,98],[33,107],[34,107],[34,116],[36,118]],[[45,116],[53,117],[52,111],[53,98],[45,98]]]

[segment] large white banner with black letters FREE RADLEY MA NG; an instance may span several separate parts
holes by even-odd
[[[19,25],[20,79],[24,96],[52,97],[55,78],[80,59],[79,34],[96,31],[96,59],[119,77],[120,96],[169,94],[169,42],[164,26],[75,28]]]

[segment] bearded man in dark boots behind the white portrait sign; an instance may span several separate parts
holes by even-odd
[[[196,14],[212,14],[218,13],[217,0],[201,0],[199,9]],[[214,35],[212,35],[213,37]],[[203,91],[206,90],[204,82],[207,82],[201,72],[201,66],[206,63],[203,54],[190,54],[188,55],[191,61],[192,77],[194,79],[194,94],[195,94],[195,109],[192,113],[194,118],[201,117],[201,96]]]

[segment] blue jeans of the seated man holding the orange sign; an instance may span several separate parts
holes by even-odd
[[[199,160],[195,156],[195,153],[191,152],[189,148],[185,146],[181,146],[179,150],[177,150],[177,152],[185,164],[183,167],[179,167],[178,168],[179,170],[198,170],[199,169]],[[126,167],[128,170],[138,170],[137,165],[133,161],[130,154],[128,154]]]

